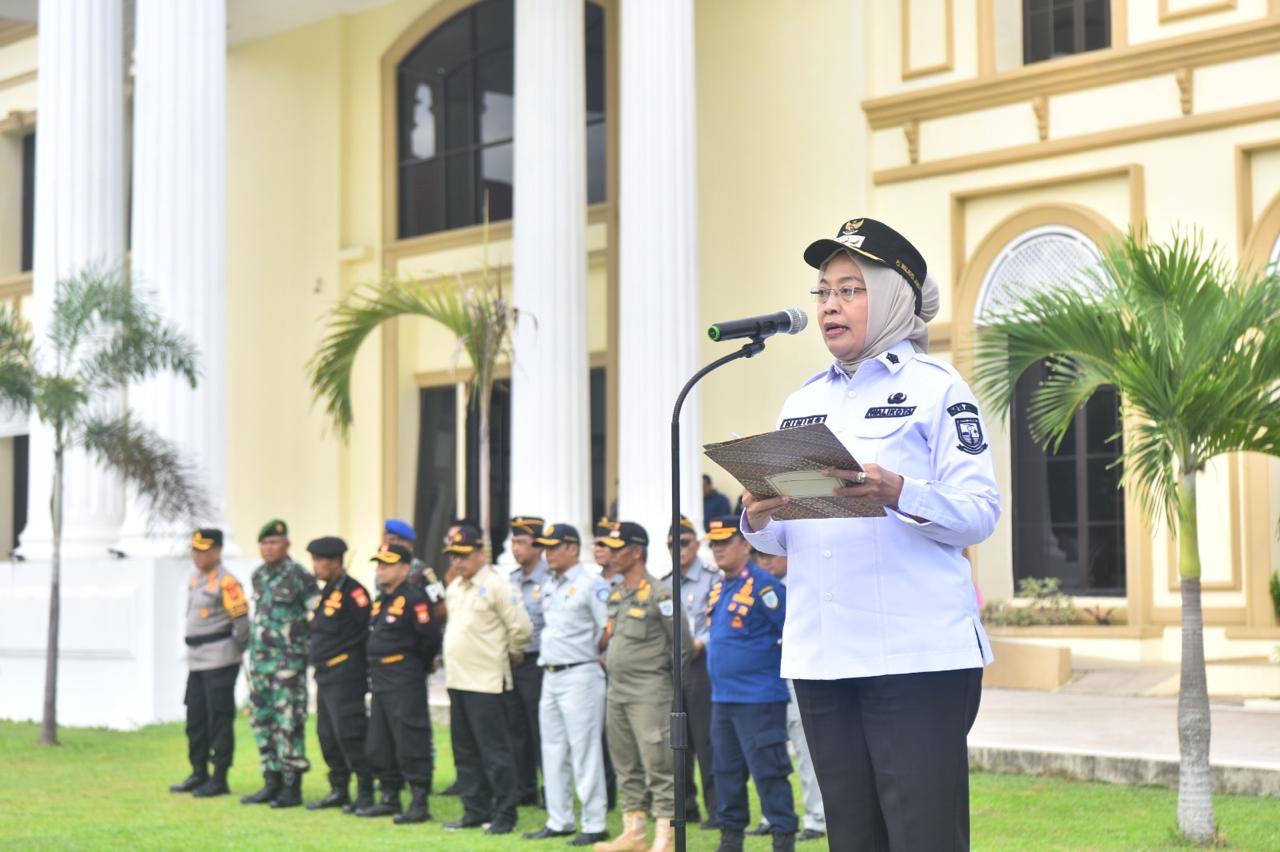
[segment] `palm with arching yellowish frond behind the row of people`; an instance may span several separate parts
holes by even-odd
[[[511,358],[512,330],[518,312],[502,290],[502,274],[489,266],[488,217],[483,239],[480,278],[468,283],[452,279],[421,280],[387,275],[378,284],[353,289],[329,317],[320,349],[311,358],[311,389],[323,402],[334,427],[346,438],[353,422],[351,372],[365,339],[383,322],[401,316],[421,316],[448,329],[457,342],[454,358],[463,352],[471,362],[471,404],[480,416],[480,528],[489,544],[490,448],[489,412],[493,384],[502,358]]]

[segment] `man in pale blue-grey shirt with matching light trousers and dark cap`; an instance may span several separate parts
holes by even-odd
[[[547,825],[526,839],[573,834],[573,782],[582,802],[582,832],[570,843],[608,839],[604,828],[604,670],[598,647],[608,620],[609,586],[579,562],[582,541],[567,523],[547,527],[550,580],[543,585],[544,627],[538,664],[543,677],[539,720],[543,733],[543,779]]]

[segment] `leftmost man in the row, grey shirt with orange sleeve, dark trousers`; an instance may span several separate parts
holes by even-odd
[[[236,677],[248,646],[248,600],[223,567],[221,530],[196,530],[191,559],[196,572],[187,581],[184,698],[191,775],[169,791],[207,798],[230,792],[227,770],[236,752]]]

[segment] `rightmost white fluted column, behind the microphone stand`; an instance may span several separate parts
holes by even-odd
[[[671,411],[698,368],[698,174],[692,0],[623,0],[620,209],[618,516],[667,565]],[[700,525],[696,394],[682,418],[681,507]]]

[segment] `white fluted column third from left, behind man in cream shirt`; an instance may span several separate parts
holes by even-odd
[[[581,0],[516,0],[511,510],[589,535]]]

